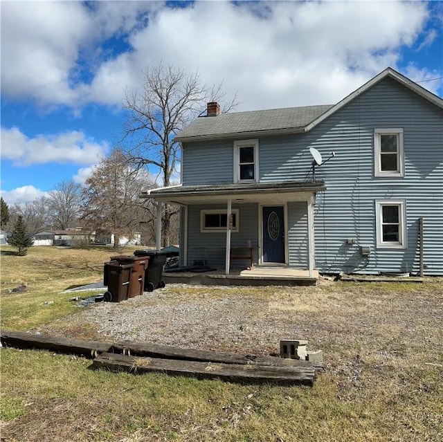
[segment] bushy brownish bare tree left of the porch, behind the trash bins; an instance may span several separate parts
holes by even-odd
[[[118,248],[120,237],[132,237],[138,230],[144,216],[139,194],[150,181],[146,172],[130,165],[115,149],[87,179],[80,219],[95,230],[114,234],[114,248]]]

